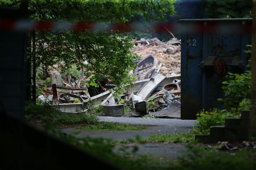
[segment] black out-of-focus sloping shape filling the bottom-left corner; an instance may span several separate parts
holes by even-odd
[[[119,169],[6,114],[0,106],[0,169]]]

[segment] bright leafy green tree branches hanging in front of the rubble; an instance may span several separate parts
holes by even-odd
[[[4,0],[2,4],[19,6],[19,2]],[[36,11],[30,16],[32,21],[78,24],[78,29],[36,29],[36,50],[32,53],[37,65],[52,66],[64,61],[65,66],[59,69],[83,67],[85,76],[93,76],[92,85],[97,86],[95,81],[106,76],[116,85],[115,91],[121,92],[123,84],[133,83],[129,71],[139,56],[131,52],[133,44],[124,30],[108,26],[125,24],[137,14],[144,16],[146,22],[165,21],[166,16],[173,15],[174,3],[175,0],[31,0],[29,8]]]

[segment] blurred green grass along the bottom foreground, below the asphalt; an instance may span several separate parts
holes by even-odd
[[[157,160],[153,157],[154,155],[142,155],[133,156],[130,152],[135,153],[138,148],[133,147],[132,151],[126,151],[128,147],[121,147],[119,151],[123,151],[125,154],[117,154],[114,152],[116,141],[104,138],[90,138],[89,136],[83,138],[77,138],[71,134],[64,134],[61,130],[51,129],[48,131],[53,136],[59,139],[69,142],[78,148],[81,148],[88,153],[95,155],[103,160],[107,160],[109,163],[120,167],[124,170],[140,169],[140,170],[183,170],[183,169],[255,169],[256,163],[253,161],[256,156],[255,150],[244,150],[235,152],[234,154],[220,154],[218,152],[219,147],[215,149],[209,147],[198,147],[193,145],[186,145],[187,156],[181,156],[171,158],[171,160],[163,162]],[[190,136],[190,134],[187,134]],[[182,138],[181,136],[179,138]],[[192,137],[193,138],[193,137]],[[143,139],[136,136],[137,141],[142,141]],[[175,139],[174,139],[175,140]],[[132,141],[132,140],[131,140]],[[119,143],[122,143],[119,141]],[[130,143],[128,140],[123,141],[123,143]],[[140,143],[143,143],[140,142]],[[221,145],[220,145],[221,146]],[[129,147],[130,148],[130,147]],[[152,159],[153,157],[153,159]],[[160,158],[162,160],[163,157]]]

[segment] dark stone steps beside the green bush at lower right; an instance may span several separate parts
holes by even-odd
[[[210,134],[197,134],[195,139],[201,143],[222,141],[241,142],[248,140],[249,110],[243,110],[239,118],[226,118],[224,126],[211,126]]]

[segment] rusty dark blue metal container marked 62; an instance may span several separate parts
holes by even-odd
[[[243,73],[252,19],[181,19],[181,119],[222,109],[225,72]],[[221,66],[222,64],[222,66]]]

